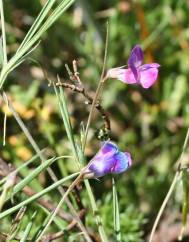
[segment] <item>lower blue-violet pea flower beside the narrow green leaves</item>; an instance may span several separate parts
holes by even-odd
[[[127,170],[131,163],[130,153],[119,151],[112,142],[105,142],[93,158],[87,173],[91,174],[91,177],[101,177],[109,173],[118,174]]]

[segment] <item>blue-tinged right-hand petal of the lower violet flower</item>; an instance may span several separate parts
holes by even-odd
[[[111,173],[117,174],[127,170],[132,163],[131,155],[128,152],[119,152],[114,155],[115,166],[112,168]]]

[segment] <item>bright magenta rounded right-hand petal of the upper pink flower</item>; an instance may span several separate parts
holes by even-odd
[[[143,88],[151,87],[157,80],[159,64],[146,64],[139,68],[140,84]]]

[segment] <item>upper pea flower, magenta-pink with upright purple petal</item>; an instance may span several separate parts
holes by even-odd
[[[112,68],[107,72],[107,76],[127,84],[139,84],[143,88],[149,88],[157,80],[160,65],[157,63],[142,65],[143,59],[142,49],[139,45],[136,45],[128,59],[128,69]]]

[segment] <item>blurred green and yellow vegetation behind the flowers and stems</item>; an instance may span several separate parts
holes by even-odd
[[[15,53],[44,2],[5,2],[9,57]],[[109,80],[102,93],[101,104],[111,119],[112,140],[121,150],[130,151],[133,157],[132,168],[115,177],[123,241],[147,240],[182,150],[189,124],[188,12],[187,0],[77,0],[43,36],[31,58],[9,75],[4,86],[40,148],[48,147],[50,154],[63,155],[69,154],[69,143],[54,91],[48,87],[42,68],[53,80],[57,74],[67,80],[64,65],[71,66],[76,59],[82,83],[90,94],[94,94],[102,70],[107,21],[107,68],[125,65],[135,44],[142,46],[146,63],[157,62],[161,65],[157,84],[149,90]],[[79,136],[80,124],[86,124],[89,106],[84,108],[84,99],[79,94],[68,90],[66,94],[75,134]],[[0,125],[3,127],[3,116],[7,110],[2,100],[0,106]],[[96,113],[89,132],[88,158],[100,146],[96,131],[102,123]],[[7,120],[6,141],[4,147],[2,140],[0,142],[0,155],[7,162],[18,166],[35,154],[11,115]],[[61,162],[54,168],[59,176],[62,175]],[[75,168],[66,162],[63,170],[66,174]],[[44,174],[41,183],[47,182]],[[91,184],[105,228],[111,237],[111,177],[92,181]],[[85,203],[85,191],[82,193]],[[166,241],[177,241],[178,234],[174,237],[173,230],[177,229],[179,233],[181,228],[181,203],[182,189],[178,184],[161,220],[156,241],[165,241],[162,239],[165,236],[170,237]],[[94,225],[90,212],[87,222]],[[187,235],[189,230],[186,230],[186,241]]]

